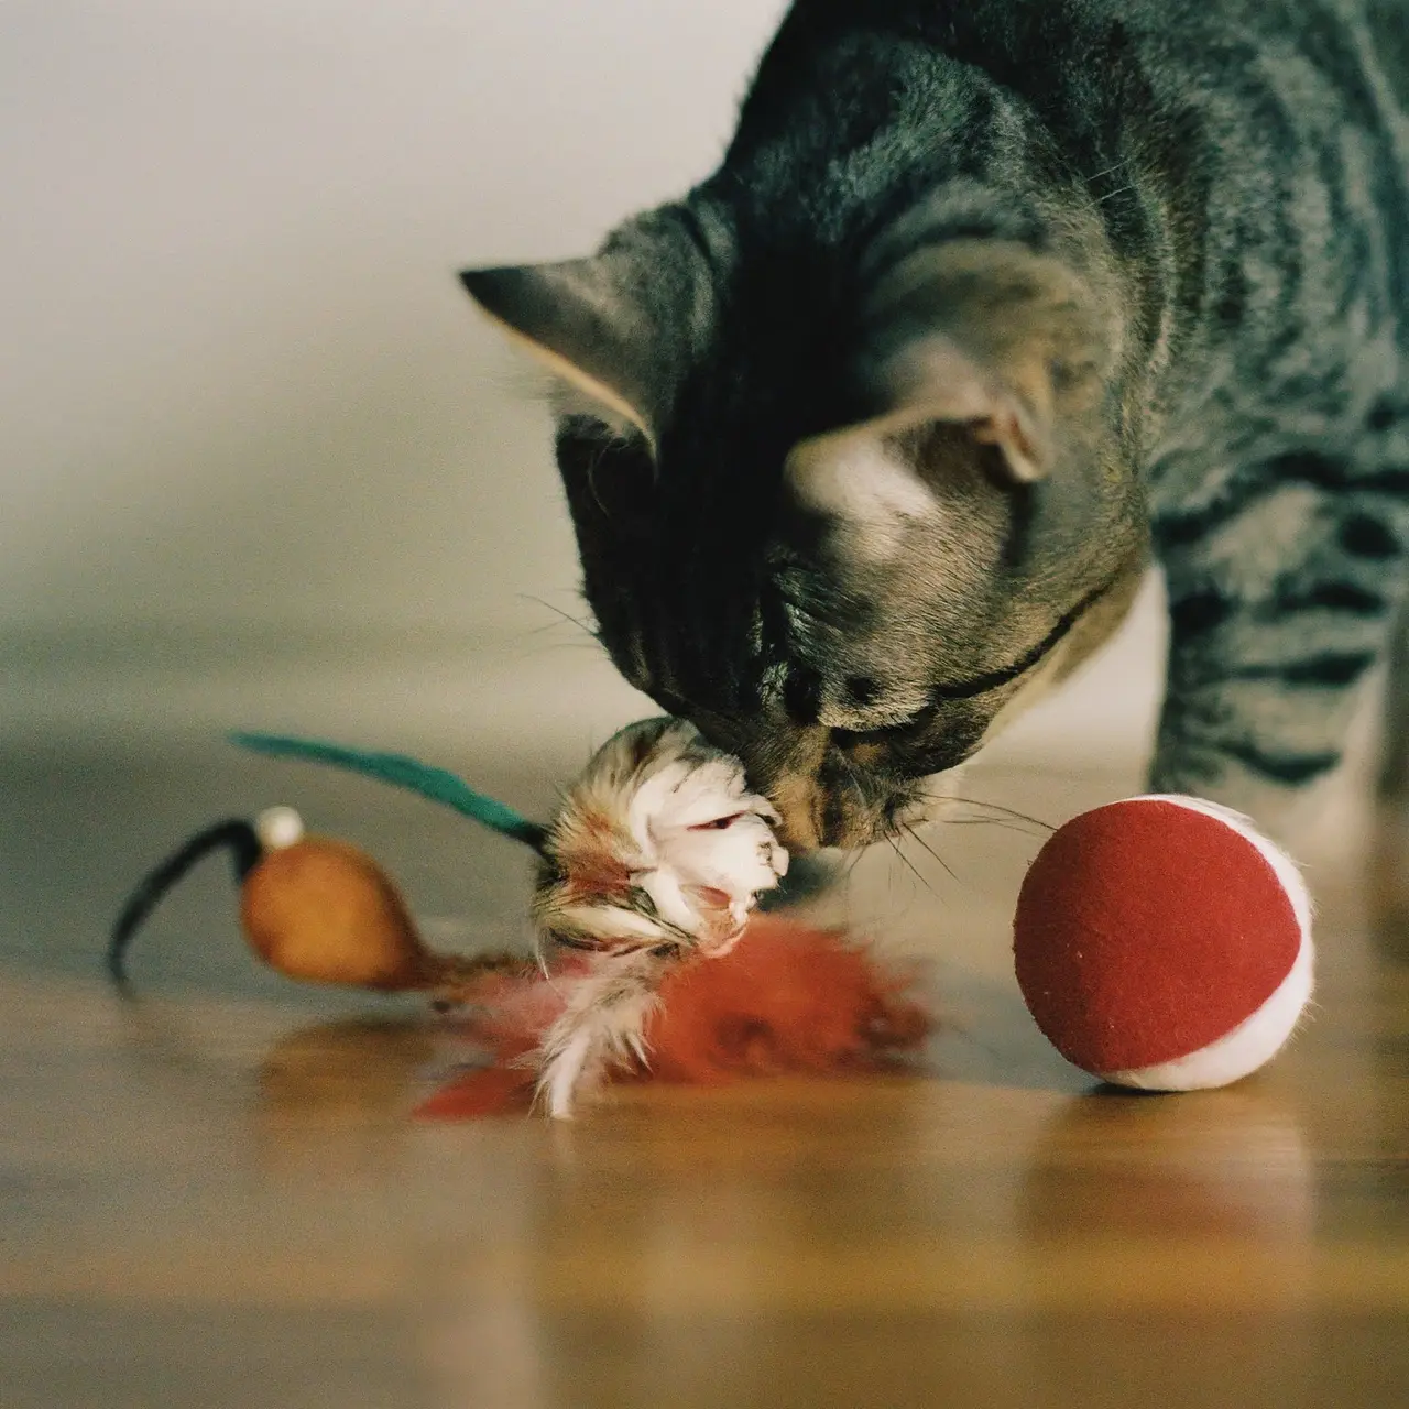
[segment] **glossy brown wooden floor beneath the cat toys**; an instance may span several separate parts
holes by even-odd
[[[459,762],[527,807],[557,766]],[[972,786],[1061,821],[1129,783]],[[103,929],[272,802],[444,941],[521,933],[513,848],[216,751],[11,757],[0,797],[4,1409],[1409,1403],[1409,976],[1353,867],[1317,875],[1315,1020],[1226,1092],[1106,1093],[1045,1047],[1006,936],[1037,840],[967,826],[930,838],[952,876],[876,852],[831,902],[936,957],[923,1071],[431,1126],[455,1051],[255,971],[218,868],[144,936],[138,1000]]]

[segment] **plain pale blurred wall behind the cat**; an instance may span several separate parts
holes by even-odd
[[[550,423],[464,265],[717,161],[782,0],[7,0],[0,731],[581,761]],[[1000,745],[1147,747],[1157,589]],[[571,765],[571,764],[569,764]]]

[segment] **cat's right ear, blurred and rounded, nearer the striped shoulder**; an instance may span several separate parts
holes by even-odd
[[[947,241],[875,279],[852,376],[867,420],[964,424],[1031,482],[1051,469],[1058,410],[1099,397],[1107,356],[1098,300],[1068,265]]]

